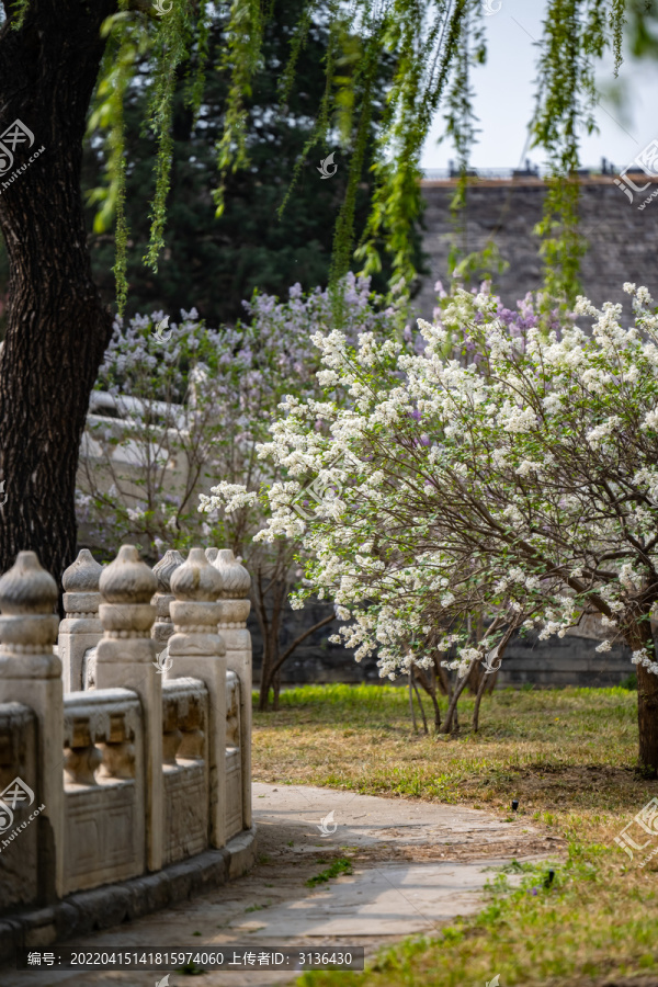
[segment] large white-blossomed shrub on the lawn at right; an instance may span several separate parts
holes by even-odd
[[[514,314],[457,291],[419,322],[421,355],[375,332],[355,348],[315,334],[328,394],[288,397],[259,450],[282,479],[257,537],[300,541],[297,604],[334,600],[341,637],[377,649],[383,674],[429,662],[433,628],[465,671],[520,623],[547,637],[595,612],[600,650],[633,649],[640,741],[643,716],[658,716],[658,316],[646,290],[626,290],[628,328],[611,304],[579,299],[574,319],[546,324],[527,302]],[[308,476],[326,495],[305,520],[293,502]],[[490,621],[477,648],[475,610]],[[640,756],[656,765],[653,736]]]

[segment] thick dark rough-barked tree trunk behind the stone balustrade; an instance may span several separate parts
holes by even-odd
[[[2,158],[0,148],[0,228],[10,264],[0,358],[0,571],[32,548],[59,583],[76,553],[89,396],[112,334],[91,277],[80,168],[105,45],[100,27],[115,10],[112,0],[30,0],[24,25],[13,31],[7,21],[0,31],[0,143],[7,148],[9,139],[11,151]],[[11,137],[16,121],[19,143]]]

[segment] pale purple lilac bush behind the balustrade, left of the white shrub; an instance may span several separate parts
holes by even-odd
[[[367,279],[348,276],[343,298],[348,338],[394,331],[398,314]],[[257,445],[286,394],[317,396],[320,359],[310,337],[329,331],[333,310],[326,292],[304,296],[299,285],[286,302],[256,295],[247,309],[243,324],[219,330],[183,313],[164,342],[154,333],[161,314],[117,322],[97,389],[114,396],[122,418],[100,409],[89,419],[78,502],[80,521],[109,555],[128,538],[154,558],[200,543],[243,557],[263,638],[264,702],[283,660],[316,627],[280,646],[287,597],[302,575],[300,544],[253,541],[269,511],[256,494],[280,477]],[[331,611],[320,624],[333,619]]]

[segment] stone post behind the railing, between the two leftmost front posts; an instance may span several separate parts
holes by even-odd
[[[61,577],[66,590],[66,617],[59,625],[58,644],[65,692],[79,692],[84,688],[84,654],[94,648],[103,636],[103,625],[99,620],[99,579],[102,571],[103,567],[93,558],[89,548],[81,548],[76,561]]]

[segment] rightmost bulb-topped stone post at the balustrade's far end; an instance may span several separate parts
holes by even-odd
[[[220,548],[213,563],[222,576],[219,633],[226,646],[226,667],[240,680],[240,747],[242,750],[242,822],[251,828],[251,634],[247,617],[251,577],[230,548]]]

